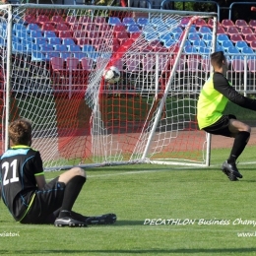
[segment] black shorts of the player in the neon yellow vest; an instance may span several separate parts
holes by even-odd
[[[225,137],[232,137],[228,129],[228,124],[230,119],[236,119],[235,115],[232,115],[232,114],[223,115],[216,123],[203,128],[203,130],[211,134],[223,135]]]

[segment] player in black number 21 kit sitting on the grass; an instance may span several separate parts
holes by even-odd
[[[73,167],[45,182],[39,152],[31,148],[32,123],[20,118],[9,125],[11,148],[1,157],[2,198],[10,213],[21,224],[87,226],[113,224],[114,214],[85,217],[72,207],[87,180],[86,172]]]

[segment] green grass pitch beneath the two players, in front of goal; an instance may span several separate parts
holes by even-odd
[[[74,210],[113,212],[113,225],[88,228],[16,224],[0,203],[1,255],[255,255],[256,147],[246,148],[238,167],[244,178],[230,182],[220,170],[229,150],[213,151],[207,168],[128,165],[88,169]],[[246,163],[254,162],[254,163]],[[47,172],[51,179],[60,172]],[[145,224],[145,219],[189,219],[195,224]],[[230,224],[199,224],[199,220]],[[12,232],[19,236],[3,234]],[[1,236],[2,235],[2,236]]]

